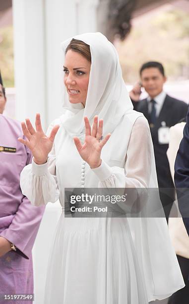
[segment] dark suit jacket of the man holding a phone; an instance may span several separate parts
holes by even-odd
[[[142,112],[150,123],[147,99],[143,99],[138,102],[137,111]],[[168,127],[174,126],[183,117],[186,117],[187,111],[188,105],[184,101],[166,95],[156,123],[153,128],[150,128],[156,160],[158,185],[160,188],[174,188],[174,183],[171,177],[169,161],[166,154],[168,144],[159,144],[158,129],[161,127],[162,121],[165,121],[166,126]]]

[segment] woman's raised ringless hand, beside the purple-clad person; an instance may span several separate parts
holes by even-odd
[[[23,134],[28,140],[18,138],[18,141],[31,150],[35,163],[43,164],[47,162],[48,154],[53,148],[55,136],[59,130],[59,125],[53,127],[49,137],[43,132],[39,113],[36,114],[36,131],[29,119],[26,119],[26,123],[22,122],[21,125]]]

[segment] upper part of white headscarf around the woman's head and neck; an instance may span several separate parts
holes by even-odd
[[[63,127],[71,137],[82,137],[85,132],[84,116],[92,124],[94,116],[98,115],[99,119],[104,119],[104,135],[112,133],[122,117],[133,109],[122,77],[118,53],[103,34],[86,33],[64,41],[64,54],[72,38],[90,46],[92,63],[85,108],[81,103],[71,104],[64,88],[63,108],[66,120],[63,115]]]

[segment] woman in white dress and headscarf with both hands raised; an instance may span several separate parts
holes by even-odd
[[[114,46],[101,33],[74,36],[62,46],[64,114],[50,125],[48,137],[39,114],[36,130],[27,119],[22,128],[28,141],[19,139],[34,155],[21,173],[23,194],[35,206],[59,199],[63,207],[44,303],[167,298],[184,281],[165,218],[127,219],[119,203],[117,210],[109,204],[106,217],[65,217],[64,188],[144,189],[137,193],[145,212],[145,189],[158,185],[148,123],[133,111]],[[111,217],[114,212],[118,217]]]

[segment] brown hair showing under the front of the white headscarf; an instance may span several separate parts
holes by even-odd
[[[89,62],[91,62],[91,51],[90,46],[85,42],[77,39],[71,39],[70,43],[66,47],[65,54],[68,50],[80,53],[85,57]]]

